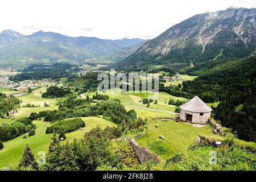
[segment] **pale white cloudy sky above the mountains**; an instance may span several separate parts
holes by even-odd
[[[1,0],[0,31],[53,31],[102,39],[151,39],[195,14],[255,0]]]

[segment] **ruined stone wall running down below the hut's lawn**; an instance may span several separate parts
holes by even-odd
[[[159,162],[159,159],[157,158],[156,155],[151,154],[150,151],[147,149],[147,147],[142,146],[139,147],[139,144],[135,142],[134,139],[129,138],[129,143],[133,146],[133,150],[135,154],[138,156],[139,162],[140,163],[147,163],[149,162],[150,159]]]

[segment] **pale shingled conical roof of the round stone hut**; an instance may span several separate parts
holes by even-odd
[[[181,109],[194,113],[208,113],[212,111],[211,107],[207,106],[199,97],[195,96],[185,104],[180,106]]]

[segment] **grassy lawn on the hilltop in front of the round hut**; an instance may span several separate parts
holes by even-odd
[[[159,125],[158,128],[155,127],[157,123]],[[161,140],[167,152],[159,156],[161,156],[162,159],[167,159],[175,154],[187,152],[188,148],[195,142],[195,138],[199,134],[205,136],[214,135],[209,125],[194,127],[186,122],[177,123],[173,120],[169,122],[158,120],[158,122],[156,122],[153,120],[150,122],[148,133],[136,140],[141,146],[148,146],[151,151],[154,151],[154,148],[150,147],[151,144]],[[165,139],[160,139],[159,135],[162,135]]]

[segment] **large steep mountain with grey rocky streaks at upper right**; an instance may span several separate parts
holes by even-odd
[[[255,15],[256,9],[243,8],[195,15],[146,42],[117,67],[249,56],[256,50]]]

